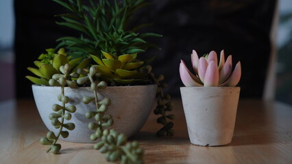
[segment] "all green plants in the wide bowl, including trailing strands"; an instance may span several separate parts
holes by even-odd
[[[36,77],[26,76],[37,85],[52,85],[62,88],[58,100],[62,105],[53,105],[49,119],[53,126],[59,129],[58,133],[49,132],[47,137],[42,137],[40,143],[50,145],[48,152],[59,152],[61,146],[56,143],[60,135],[68,137],[68,131],[73,130],[73,123],[64,123],[71,119],[75,106],[66,106],[69,98],[65,96],[64,87],[90,86],[94,97],[84,97],[83,102],[95,103],[96,110],[88,111],[86,118],[95,119],[88,124],[88,128],[95,131],[90,139],[101,139],[94,146],[95,149],[106,153],[108,161],[121,161],[121,163],[143,163],[143,150],[138,142],[127,142],[125,135],[110,129],[114,120],[111,115],[106,115],[111,100],[105,98],[98,100],[97,91],[105,89],[107,85],[145,85],[157,84],[156,98],[158,106],[154,113],[162,115],[157,122],[163,127],[157,135],[173,135],[174,115],[167,114],[171,111],[170,96],[163,93],[167,87],[162,83],[162,75],[158,78],[151,72],[151,66],[146,61],[137,59],[137,53],[143,53],[149,47],[156,47],[145,40],[147,37],[161,37],[157,33],[138,33],[137,30],[145,25],[136,27],[128,26],[130,18],[136,10],[147,6],[144,0],[89,0],[83,4],[82,0],[53,0],[62,5],[69,13],[60,14],[64,22],[58,22],[80,33],[79,37],[66,36],[59,38],[56,49],[47,49],[34,61],[37,68],[27,68]],[[64,48],[67,52],[64,51]],[[151,57],[149,57],[151,58]]]

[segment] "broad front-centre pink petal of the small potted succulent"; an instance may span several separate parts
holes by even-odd
[[[204,87],[217,87],[219,82],[219,70],[214,60],[210,61],[206,70]]]

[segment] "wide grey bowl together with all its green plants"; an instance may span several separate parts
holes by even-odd
[[[151,71],[151,59],[142,61],[152,44],[145,41],[156,33],[138,33],[127,27],[132,14],[147,3],[143,1],[55,0],[68,10],[60,14],[80,37],[58,39],[55,49],[48,49],[28,68],[38,77],[27,76],[35,83],[34,98],[49,133],[40,143],[47,152],[60,152],[58,139],[74,142],[97,142],[93,148],[106,153],[108,161],[142,163],[143,150],[137,141],[127,142],[144,124],[154,99],[154,113],[162,128],[158,136],[173,135],[170,96],[162,75]],[[65,52],[66,49],[66,52]],[[49,108],[53,109],[48,111]],[[70,135],[69,135],[70,131]]]

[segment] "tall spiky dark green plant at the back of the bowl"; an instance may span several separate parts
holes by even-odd
[[[145,38],[161,37],[157,33],[136,32],[146,24],[131,29],[128,26],[134,12],[149,4],[144,0],[89,0],[89,5],[82,3],[82,0],[54,1],[69,12],[59,14],[64,22],[57,24],[75,29],[81,34],[79,38],[59,38],[57,47],[66,46],[75,56],[86,58],[88,54],[101,55],[101,50],[112,55],[141,53],[151,46],[156,47]]]

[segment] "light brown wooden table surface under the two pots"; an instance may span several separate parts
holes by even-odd
[[[145,150],[145,163],[292,163],[292,108],[279,102],[240,100],[232,143],[194,146],[188,139],[181,100],[174,101],[174,137],[156,137],[157,116],[132,139]],[[90,143],[60,141],[62,154],[46,153],[38,140],[47,128],[34,100],[0,103],[0,163],[107,163]]]

